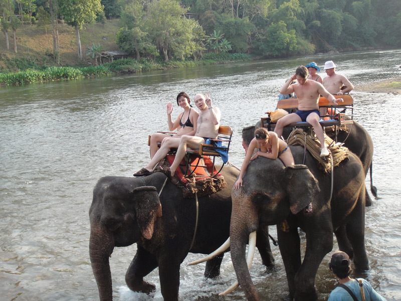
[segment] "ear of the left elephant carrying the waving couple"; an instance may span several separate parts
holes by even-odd
[[[133,190],[136,204],[136,218],[143,237],[151,239],[154,222],[162,216],[161,204],[156,187],[142,186]]]

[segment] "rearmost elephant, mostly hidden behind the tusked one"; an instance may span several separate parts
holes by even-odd
[[[349,118],[345,116],[345,118]],[[365,172],[365,177],[367,172],[370,169],[370,191],[372,192],[373,196],[377,198],[377,189],[373,186],[373,179],[372,179],[372,167],[373,167],[373,141],[370,137],[369,133],[358,123],[354,120],[353,124],[346,125],[349,131],[339,130],[337,133],[337,141],[343,142],[344,146],[351,150],[356,156],[359,157],[360,161],[363,165],[363,170]],[[254,131],[256,128],[261,127],[261,122],[257,122],[255,126],[248,126],[245,127],[242,131],[243,136],[243,146],[244,148],[249,145],[250,141],[254,137]],[[287,138],[291,133],[292,128],[284,128],[283,137]],[[335,139],[335,132],[334,131],[326,131],[326,134]],[[372,201],[370,199],[367,190],[365,191],[366,195],[366,206],[369,207],[372,205]]]

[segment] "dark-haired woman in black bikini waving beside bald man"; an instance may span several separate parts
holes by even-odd
[[[171,102],[167,103],[168,128],[170,131],[178,128],[177,133],[173,136],[163,133],[152,134],[150,136],[150,159],[152,159],[157,152],[157,142],[163,143],[164,139],[179,138],[182,135],[193,135],[196,132],[196,121],[199,114],[189,105],[190,99],[188,94],[180,92],[177,95],[177,104],[183,108],[184,111],[180,113],[173,122],[171,119],[171,113],[173,111],[172,104]]]

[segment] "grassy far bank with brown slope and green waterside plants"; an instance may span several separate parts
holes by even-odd
[[[56,66],[53,52],[52,28],[24,25],[17,31],[17,53],[6,49],[4,35],[0,35],[0,85],[22,85],[52,80],[102,76],[112,73],[137,73],[150,70],[192,67],[235,60],[249,60],[245,54],[207,53],[198,61],[168,61],[132,58],[115,60],[94,66],[94,60],[86,56],[86,47],[92,43],[103,46],[104,51],[118,50],[115,36],[119,20],[101,24],[88,24],[80,31],[84,60],[78,59],[77,41],[72,27],[59,25],[61,66]],[[13,37],[9,33],[10,47]]]

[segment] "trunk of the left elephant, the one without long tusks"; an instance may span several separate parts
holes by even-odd
[[[89,240],[89,254],[93,274],[99,289],[100,301],[113,299],[113,287],[109,257],[114,249],[114,239],[109,231],[98,226],[91,225]]]

